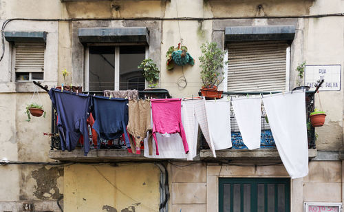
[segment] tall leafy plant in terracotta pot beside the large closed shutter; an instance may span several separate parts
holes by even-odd
[[[202,56],[200,60],[201,78],[202,78],[202,96],[206,99],[221,98],[222,91],[217,91],[217,86],[224,81],[224,72],[222,71],[225,64],[224,55],[226,51],[222,51],[217,47],[217,43],[203,43],[201,45]]]

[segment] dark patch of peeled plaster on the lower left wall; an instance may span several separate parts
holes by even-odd
[[[31,172],[32,178],[36,180],[37,186],[34,195],[40,200],[58,199],[61,193],[57,187],[57,178],[63,176],[63,169],[42,167]]]

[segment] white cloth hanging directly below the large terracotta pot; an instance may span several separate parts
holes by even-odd
[[[232,147],[230,134],[230,102],[228,100],[206,100],[206,118],[209,135],[216,150]]]

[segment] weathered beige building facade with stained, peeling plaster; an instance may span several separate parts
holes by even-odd
[[[276,208],[269,211],[303,211],[304,202],[343,202],[343,11],[341,0],[0,0],[4,37],[0,51],[4,51],[0,61],[0,211],[25,211],[31,206],[34,211],[237,211],[240,205],[233,201],[240,202],[240,198],[233,193],[243,194],[245,184],[253,187],[250,180],[266,180],[261,181],[265,185],[260,193],[264,199],[255,196],[258,202],[252,204],[262,201],[266,207],[271,200],[283,202],[283,209],[271,203]],[[102,30],[97,31],[99,28]],[[111,30],[118,30],[122,37],[111,37]],[[275,51],[276,42],[269,43],[269,36],[275,36],[277,46],[286,50],[281,56],[282,77],[264,76],[266,81],[274,81],[274,87],[264,84],[257,92],[275,87],[283,87],[286,92],[297,87],[296,69],[303,61],[307,65],[339,65],[341,70],[339,78],[333,79],[339,82],[338,89],[319,92],[327,118],[323,127],[316,128],[307,177],[291,180],[276,149],[228,149],[217,151],[217,158],[211,158],[208,150],[200,150],[193,162],[148,160],[117,149],[92,149],[87,157],[81,149],[50,150],[50,138],[43,133],[52,130],[51,101],[32,81],[41,80],[49,87],[61,85],[61,70],[66,69],[71,72],[67,83],[82,85],[85,92],[101,89],[106,83],[120,89],[116,77],[121,65],[150,58],[160,68],[159,87],[168,89],[175,98],[198,96],[202,81],[197,59],[202,43],[215,41],[228,50],[228,56],[231,52],[250,52],[250,47],[240,50],[240,45],[235,45],[243,41],[252,45],[265,42],[264,46],[272,46],[265,51]],[[165,54],[181,40],[195,65],[168,71]],[[43,48],[43,54],[29,51],[32,60],[39,62],[36,66],[20,63],[20,50],[25,53],[25,47],[32,45],[37,51]],[[115,79],[94,85],[90,55],[110,50],[114,52]],[[137,58],[121,58],[131,51]],[[25,65],[30,68],[25,70]],[[252,91],[244,86],[250,81],[231,77],[230,65],[224,72],[227,78],[220,87],[225,91]],[[255,74],[244,78],[258,79]],[[46,118],[26,122],[25,106],[36,89]],[[318,100],[316,96],[316,106]],[[56,160],[62,164],[54,164]],[[242,186],[226,193],[226,183]],[[275,191],[271,196],[270,185]],[[277,195],[279,189],[283,196]],[[232,204],[226,198],[233,200]]]

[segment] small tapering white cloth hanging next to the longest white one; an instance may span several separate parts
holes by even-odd
[[[234,98],[232,105],[242,141],[248,149],[259,149],[261,137],[260,97]]]

